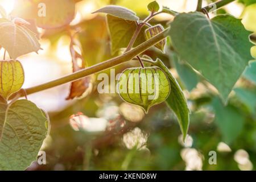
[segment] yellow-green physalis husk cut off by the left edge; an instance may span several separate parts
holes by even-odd
[[[23,85],[24,72],[17,60],[0,61],[0,95],[7,99]]]

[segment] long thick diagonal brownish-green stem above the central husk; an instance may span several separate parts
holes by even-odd
[[[151,46],[154,46],[156,43],[160,42],[161,40],[165,39],[168,35],[167,32],[170,28],[166,28],[163,32],[160,32],[160,34],[154,36],[153,38],[147,40],[146,42],[140,44],[139,46],[135,47],[134,49],[123,53],[120,56],[113,57],[112,59],[106,60],[102,63],[98,63],[96,65],[93,65],[92,67],[88,67],[85,69],[81,69],[81,71],[72,73],[70,75],[58,78],[53,81],[46,82],[44,84],[33,86],[31,88],[24,89],[27,94],[32,94],[35,92],[40,92],[42,90],[46,90],[58,85],[65,84],[67,82],[78,80],[82,77],[92,75],[93,73],[104,71],[105,69],[112,68],[115,65],[125,63],[126,61],[129,61],[136,57],[137,55],[141,54],[142,52],[146,51]],[[21,97],[24,96],[24,92],[21,93]]]

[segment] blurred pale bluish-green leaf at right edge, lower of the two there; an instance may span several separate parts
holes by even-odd
[[[256,92],[243,88],[235,88],[234,92],[237,98],[247,106],[250,113],[256,114]]]

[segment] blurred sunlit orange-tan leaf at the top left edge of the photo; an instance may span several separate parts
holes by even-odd
[[[59,28],[69,24],[75,16],[73,0],[16,0],[12,16],[36,19],[41,28]]]

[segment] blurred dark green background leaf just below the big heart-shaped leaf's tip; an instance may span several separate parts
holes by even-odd
[[[245,118],[233,106],[224,106],[218,98],[214,98],[212,107],[215,112],[215,122],[220,128],[224,142],[227,144],[234,142],[242,131]]]

